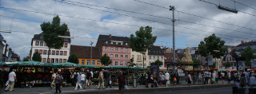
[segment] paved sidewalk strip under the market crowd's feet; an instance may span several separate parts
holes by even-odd
[[[132,86],[128,87],[126,93],[131,92],[155,92],[155,91],[165,91],[165,90],[186,90],[186,89],[196,89],[196,88],[219,88],[219,87],[232,87],[234,86],[234,82],[231,84],[179,84],[177,87],[174,85],[170,85],[170,87],[158,87],[158,88],[146,88],[145,85],[139,85],[137,88],[133,88]],[[47,87],[35,87],[35,88],[14,88],[14,92],[5,92],[4,88],[1,88],[0,94],[53,94],[55,89],[50,89]],[[113,86],[112,88],[106,89],[97,89],[96,85],[93,85],[92,88],[83,88],[78,90],[74,90],[74,86],[72,87],[62,87],[62,93],[118,93],[118,86]],[[232,91],[230,91],[232,92]]]

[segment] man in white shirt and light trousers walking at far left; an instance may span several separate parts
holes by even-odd
[[[14,90],[14,81],[17,81],[16,79],[16,74],[15,74],[15,69],[12,70],[12,72],[9,73],[8,77],[8,86],[6,87],[5,91],[7,92],[8,90],[12,92]]]

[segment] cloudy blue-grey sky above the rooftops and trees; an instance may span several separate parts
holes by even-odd
[[[70,28],[72,45],[90,45],[99,34],[130,37],[139,26],[150,25],[158,39],[154,45],[172,47],[172,11],[175,7],[176,49],[198,46],[215,33],[225,45],[256,40],[255,0],[0,0],[0,29],[10,48],[28,56],[40,24],[59,15]],[[238,10],[218,10],[217,5]]]

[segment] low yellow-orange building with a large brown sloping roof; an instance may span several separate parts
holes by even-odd
[[[79,65],[95,65],[102,66],[100,61],[101,53],[98,48],[92,47],[92,55],[90,54],[90,46],[70,45],[70,54],[78,57]],[[90,56],[92,57],[90,61]]]

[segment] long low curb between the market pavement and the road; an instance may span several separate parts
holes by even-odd
[[[222,88],[233,87],[235,84],[211,84],[211,85],[199,85],[199,86],[180,86],[180,87],[160,87],[160,88],[129,88],[125,90],[125,93],[130,92],[158,92],[158,91],[175,91],[175,90],[187,90],[187,89],[200,89],[200,88]],[[106,93],[120,93],[116,89],[98,89],[90,91],[70,91],[63,92],[64,94],[106,94]]]

